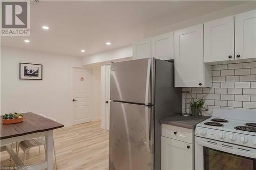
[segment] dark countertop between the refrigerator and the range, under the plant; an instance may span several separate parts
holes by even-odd
[[[179,114],[179,115],[163,118],[160,120],[160,123],[178,126],[182,128],[195,129],[198,123],[202,122],[207,118],[209,118],[209,116],[193,117],[193,116],[182,116]]]

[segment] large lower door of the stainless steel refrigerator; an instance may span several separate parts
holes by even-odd
[[[150,147],[151,107],[111,102],[110,170],[154,168]]]

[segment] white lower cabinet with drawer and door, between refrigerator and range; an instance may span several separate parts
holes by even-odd
[[[161,140],[162,170],[194,169],[192,129],[162,124]]]

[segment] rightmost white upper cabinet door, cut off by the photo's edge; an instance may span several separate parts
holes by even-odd
[[[256,10],[234,15],[236,59],[256,58]]]

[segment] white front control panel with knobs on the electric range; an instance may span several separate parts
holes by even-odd
[[[256,136],[196,127],[195,136],[256,148]]]

